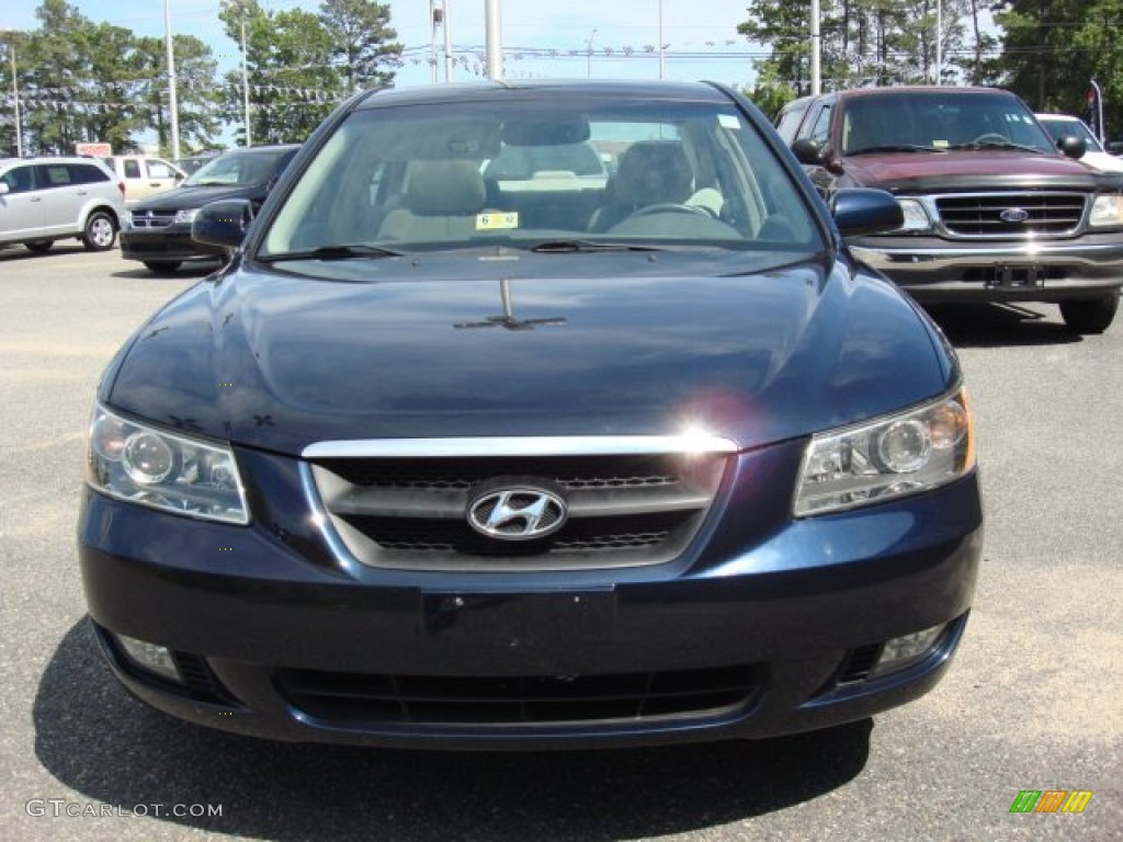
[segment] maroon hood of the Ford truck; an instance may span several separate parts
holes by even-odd
[[[855,155],[843,161],[856,184],[893,192],[942,187],[1058,187],[1093,190],[1096,173],[1060,155],[1020,152],[940,152]]]

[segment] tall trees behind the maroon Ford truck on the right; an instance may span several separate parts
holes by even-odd
[[[766,112],[810,93],[809,0],[751,0],[738,31],[770,47],[751,98]],[[937,62],[937,15],[940,44]],[[1123,137],[1123,0],[821,0],[824,91],[862,85],[998,85],[1035,111],[1089,117],[1104,93]]]

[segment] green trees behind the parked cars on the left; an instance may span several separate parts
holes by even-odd
[[[72,154],[82,141],[116,150],[155,131],[170,143],[168,77],[163,38],[97,24],[65,0],[43,0],[39,27],[7,33],[16,49],[25,153]],[[258,0],[223,0],[226,34],[246,45],[254,144],[303,140],[350,92],[390,83],[402,46],[389,3],[323,0],[319,13],[272,11]],[[181,149],[216,148],[226,123],[245,141],[241,70],[220,74],[213,51],[186,34],[173,36]],[[10,54],[4,56],[10,67]],[[11,109],[12,97],[8,95]],[[15,154],[15,111],[7,110],[0,148]]]

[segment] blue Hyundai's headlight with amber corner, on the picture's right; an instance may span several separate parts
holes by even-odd
[[[967,394],[811,438],[793,514],[803,518],[938,488],[975,467]]]

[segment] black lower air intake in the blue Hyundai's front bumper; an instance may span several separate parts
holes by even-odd
[[[748,705],[763,670],[741,665],[596,676],[436,677],[283,670],[281,693],[322,722],[524,725],[713,716]]]

